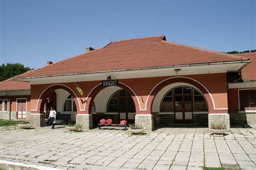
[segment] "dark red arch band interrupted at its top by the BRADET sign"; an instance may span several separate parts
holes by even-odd
[[[140,103],[139,103],[138,97],[134,93],[134,91],[129,86],[127,86],[126,84],[124,84],[122,82],[118,82],[118,87],[126,90],[131,95],[132,100],[135,104],[136,112],[139,112]],[[101,84],[98,84],[95,88],[92,89],[92,91],[86,98],[86,104],[85,104],[85,109],[84,109],[85,114],[91,114],[91,107],[92,107],[92,103],[93,103],[95,96],[99,93],[99,91],[101,91],[105,88],[107,88],[107,87],[103,87]]]

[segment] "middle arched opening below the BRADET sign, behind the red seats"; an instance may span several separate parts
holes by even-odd
[[[112,119],[113,123],[126,120],[134,123],[136,105],[133,96],[126,89],[118,86],[111,86],[100,90],[93,98],[91,114],[93,115],[93,125],[99,123],[100,119]]]

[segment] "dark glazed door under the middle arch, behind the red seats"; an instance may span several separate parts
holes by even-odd
[[[134,123],[134,102],[131,96],[119,96],[119,121],[126,120],[127,123]]]

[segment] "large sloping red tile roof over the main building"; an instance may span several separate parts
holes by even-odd
[[[165,36],[156,36],[111,42],[95,51],[31,70],[14,78],[238,60],[247,59],[168,42]]]

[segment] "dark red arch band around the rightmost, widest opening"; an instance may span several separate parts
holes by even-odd
[[[154,87],[154,89],[151,91],[151,94],[149,95],[149,98],[147,99],[147,103],[146,103],[147,110],[150,110],[150,112],[152,112],[153,101],[154,101],[155,96],[159,93],[159,91],[161,89],[163,89],[164,87],[166,87],[172,83],[187,83],[187,84],[191,84],[192,86],[198,88],[206,99],[206,102],[208,104],[208,112],[209,113],[218,112],[218,111],[214,110],[214,108],[215,108],[214,101],[212,100],[211,94],[208,93],[208,90],[202,84],[197,82],[196,80],[190,79],[188,77],[172,77],[171,79],[167,79],[167,80],[160,82],[156,87]]]

